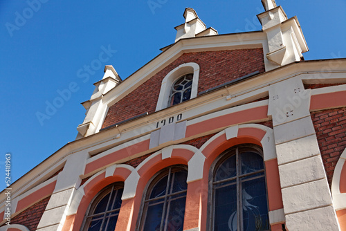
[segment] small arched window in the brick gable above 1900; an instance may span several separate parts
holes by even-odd
[[[187,74],[179,77],[172,86],[169,105],[180,104],[191,98],[192,78],[193,74]]]

